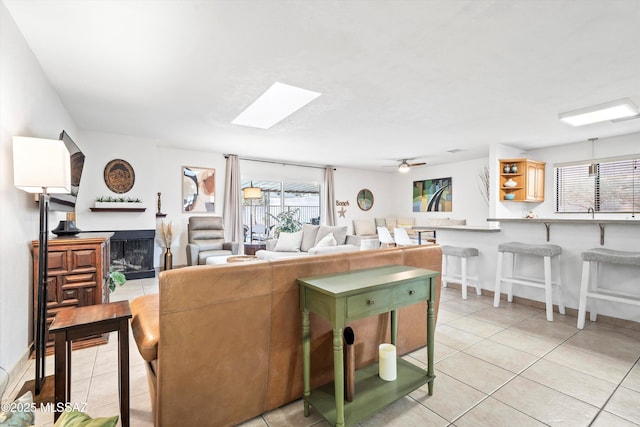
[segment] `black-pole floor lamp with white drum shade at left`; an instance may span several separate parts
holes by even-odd
[[[50,193],[69,193],[71,162],[64,142],[54,139],[13,137],[13,184],[27,193],[40,194],[40,234],[38,238],[38,302],[35,324],[35,394],[40,394],[45,379],[47,324],[48,212]]]

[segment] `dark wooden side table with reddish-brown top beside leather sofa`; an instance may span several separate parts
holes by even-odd
[[[71,342],[75,339],[107,332],[118,332],[118,388],[120,421],[129,427],[129,301],[60,310],[49,327],[55,334],[55,406],[54,419],[62,411],[59,406],[71,400]]]

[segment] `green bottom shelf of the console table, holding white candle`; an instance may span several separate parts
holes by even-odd
[[[356,371],[356,385],[352,402],[344,402],[346,426],[373,415],[380,408],[406,396],[424,384],[433,381],[427,371],[403,359],[397,359],[398,377],[384,381],[378,376],[378,364],[374,363]],[[331,425],[336,424],[335,386],[331,382],[311,391],[305,400]]]

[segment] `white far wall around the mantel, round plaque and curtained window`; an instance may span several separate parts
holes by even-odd
[[[224,212],[224,179],[226,160],[223,153],[179,150],[153,141],[126,135],[99,132],[81,132],[72,135],[86,155],[78,195],[76,225],[84,231],[157,229],[161,222],[171,222],[174,242],[172,245],[174,266],[186,264],[187,223],[192,215],[203,213],[182,212],[182,167],[206,167],[215,169],[216,202],[211,215],[222,216]],[[147,209],[144,213],[91,212],[98,196],[119,196],[109,191],[104,183],[103,171],[113,159],[123,159],[131,164],[136,179],[133,188],[122,194],[124,197],[140,198]],[[243,179],[289,180],[295,182],[323,183],[324,169],[262,163],[241,160],[240,173]],[[352,220],[374,218],[393,212],[390,203],[390,177],[392,174],[376,173],[358,169],[338,168],[334,171],[336,200],[348,201],[344,218],[339,217],[339,207],[334,206],[337,224],[349,227]],[[374,205],[362,211],[356,203],[358,192],[368,188],[374,194]],[[161,210],[165,218],[156,219],[157,193],[161,193]],[[162,266],[164,249],[156,239],[154,265]]]

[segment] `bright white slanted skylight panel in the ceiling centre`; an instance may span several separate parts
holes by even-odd
[[[269,129],[317,97],[318,92],[275,82],[231,123],[259,129]]]

